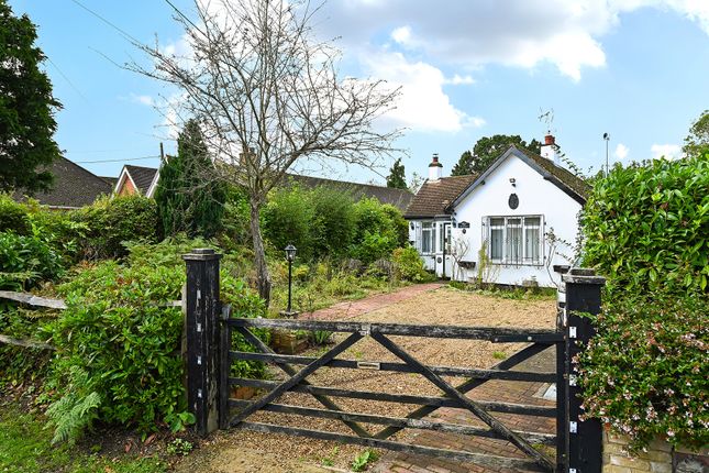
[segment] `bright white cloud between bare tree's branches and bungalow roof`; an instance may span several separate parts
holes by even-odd
[[[481,127],[485,120],[456,109],[443,92],[446,79],[436,67],[408,62],[401,53],[369,54],[362,58],[372,76],[401,87],[397,108],[386,119],[399,127],[422,131],[457,132]]]

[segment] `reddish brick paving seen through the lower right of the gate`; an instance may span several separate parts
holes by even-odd
[[[540,372],[554,371],[553,349],[545,350],[533,359],[521,363],[516,367],[516,370]],[[475,400],[496,400],[529,404],[534,406],[554,406],[553,402],[541,397],[541,394],[543,394],[547,387],[547,383],[488,381],[484,385],[469,392],[468,397]],[[492,413],[492,415],[513,430],[555,433],[556,424],[554,418],[498,413]],[[485,427],[485,425],[478,420],[475,415],[465,409],[441,408],[429,416],[428,419]],[[463,450],[476,453],[490,453],[498,457],[525,458],[525,455],[514,446],[502,440],[436,432],[431,430],[418,430],[417,433],[411,437],[412,438],[409,439],[409,442],[417,446]],[[554,458],[553,448],[547,448],[544,452],[551,458]],[[425,455],[389,452],[384,455],[372,471],[377,473],[508,473],[512,470],[492,469],[473,463],[452,462],[445,461],[445,459],[436,459]]]

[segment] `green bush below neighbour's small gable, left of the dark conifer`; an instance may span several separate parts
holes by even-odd
[[[120,257],[128,254],[123,243],[157,241],[157,206],[142,196],[98,199],[75,213],[86,223],[85,256],[89,258]]]

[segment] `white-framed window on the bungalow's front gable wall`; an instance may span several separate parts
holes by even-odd
[[[542,264],[542,217],[487,217],[488,256],[494,263]]]

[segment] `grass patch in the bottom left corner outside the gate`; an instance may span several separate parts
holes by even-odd
[[[167,466],[155,458],[125,455],[115,461],[66,443],[51,444],[53,431],[38,415],[14,405],[0,405],[0,472],[41,473],[163,473]]]

